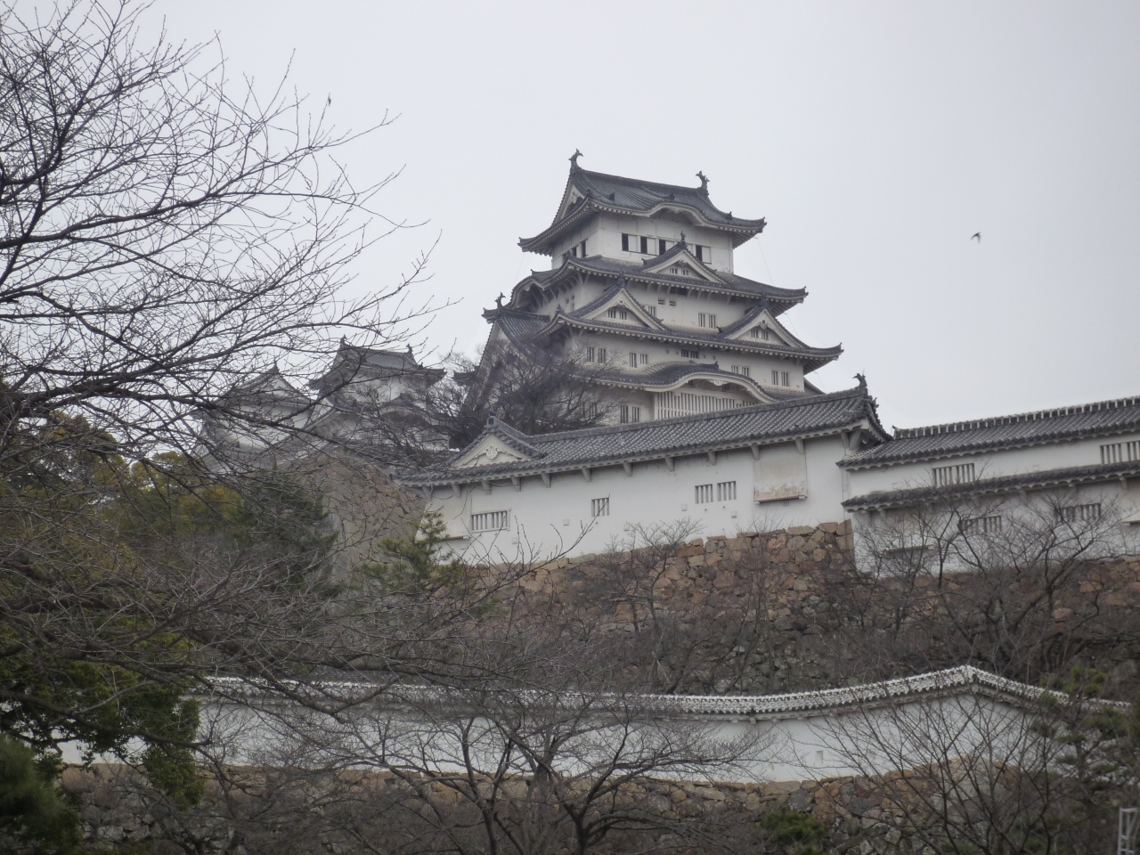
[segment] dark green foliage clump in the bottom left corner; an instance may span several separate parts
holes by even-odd
[[[38,854],[73,850],[79,816],[59,797],[58,775],[58,763],[36,759],[27,746],[0,735],[0,836]]]

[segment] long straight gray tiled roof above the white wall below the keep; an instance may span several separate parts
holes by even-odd
[[[870,422],[873,433],[880,438],[885,435],[878,424],[873,400],[864,386],[856,386],[842,392],[698,416],[528,435],[526,442],[542,454],[539,459],[456,469],[451,463],[458,459],[457,455],[448,464],[407,474],[401,480],[413,484],[449,483],[656,459],[673,454],[701,454],[741,448],[752,442],[825,435],[863,420]]]

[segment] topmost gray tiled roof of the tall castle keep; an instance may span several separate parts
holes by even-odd
[[[563,227],[583,219],[589,211],[616,210],[634,214],[648,214],[658,206],[678,205],[694,211],[707,226],[731,233],[734,238],[746,241],[764,230],[764,218],[749,220],[734,217],[712,204],[700,187],[682,187],[635,178],[609,176],[584,169],[571,169],[567,181],[583,194],[583,198],[545,230],[535,237],[519,241],[523,250],[549,251],[549,243]]]

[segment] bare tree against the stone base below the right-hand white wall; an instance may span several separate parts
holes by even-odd
[[[825,581],[830,618],[868,677],[972,662],[1036,682],[1138,637],[1121,594],[1091,584],[1124,547],[1115,504],[1072,490],[876,513]]]

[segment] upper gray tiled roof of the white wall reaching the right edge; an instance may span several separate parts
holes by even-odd
[[[1140,398],[1122,398],[972,422],[899,429],[889,442],[849,457],[842,465],[874,466],[1134,430],[1140,430]]]

